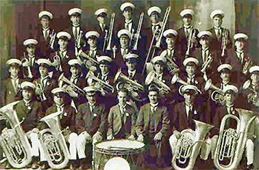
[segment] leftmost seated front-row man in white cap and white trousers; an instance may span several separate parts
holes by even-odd
[[[21,88],[23,89],[23,100],[14,106],[14,110],[16,110],[18,120],[21,122],[21,127],[32,143],[32,169],[38,169],[39,155],[40,161],[47,160],[38,140],[38,118],[43,114],[42,106],[35,99],[35,85],[33,83],[23,82]]]

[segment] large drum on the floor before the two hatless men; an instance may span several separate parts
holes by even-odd
[[[145,144],[127,139],[104,141],[95,145],[94,169],[103,169],[112,157],[122,157],[129,162],[131,169],[143,166]]]

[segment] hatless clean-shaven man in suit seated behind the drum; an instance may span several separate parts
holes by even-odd
[[[128,91],[125,88],[118,90],[118,104],[110,108],[108,114],[107,139],[129,138],[134,140],[136,110],[126,103]]]

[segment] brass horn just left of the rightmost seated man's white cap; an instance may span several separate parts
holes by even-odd
[[[214,86],[214,84],[212,84],[211,79],[209,79],[204,86],[204,90],[208,89],[214,90],[211,94],[211,99],[213,101],[215,101],[218,104],[225,105],[225,95],[223,93],[223,90],[221,90],[217,86]]]

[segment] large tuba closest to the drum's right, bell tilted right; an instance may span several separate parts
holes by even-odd
[[[214,127],[208,123],[193,120],[195,122],[195,131],[186,129],[182,130],[181,137],[176,144],[175,153],[173,153],[172,165],[177,170],[190,170],[195,165],[195,160],[199,155],[201,147],[204,147],[206,134]],[[207,144],[208,145],[208,144]],[[181,168],[177,165],[186,163],[189,158],[187,167]]]

